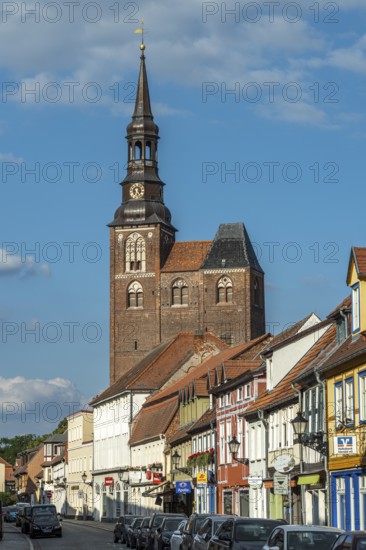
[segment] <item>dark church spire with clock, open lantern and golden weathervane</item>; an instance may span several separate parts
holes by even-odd
[[[140,31],[140,29],[139,29]],[[127,175],[121,182],[122,204],[109,225],[163,223],[171,225],[171,215],[164,204],[164,183],[158,173],[159,127],[151,111],[149,84],[145,65],[145,44],[140,44],[140,73],[132,121],[127,126]]]

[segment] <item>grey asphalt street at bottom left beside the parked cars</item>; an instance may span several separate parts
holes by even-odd
[[[5,524],[4,538],[0,542],[0,550],[94,550],[121,548],[120,543],[113,542],[113,525],[104,526],[99,523],[62,522],[62,538],[36,538],[22,535],[20,529],[13,524]]]

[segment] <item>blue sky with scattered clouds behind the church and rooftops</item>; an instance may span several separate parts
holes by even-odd
[[[3,434],[50,431],[108,385],[106,224],[141,19],[178,239],[245,223],[267,329],[326,316],[365,244],[364,0],[32,7],[3,4],[0,23]]]

